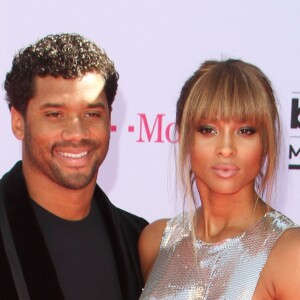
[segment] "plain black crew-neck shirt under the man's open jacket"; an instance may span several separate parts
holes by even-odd
[[[121,299],[112,246],[94,201],[80,221],[61,219],[32,203],[65,299]]]

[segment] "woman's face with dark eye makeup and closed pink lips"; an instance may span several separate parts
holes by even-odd
[[[200,195],[254,190],[263,151],[254,122],[203,121],[193,130],[190,160]]]

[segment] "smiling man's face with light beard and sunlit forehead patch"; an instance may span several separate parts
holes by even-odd
[[[87,73],[75,79],[37,77],[35,83],[25,118],[12,109],[14,133],[23,140],[24,172],[69,189],[95,183],[110,137],[104,78]]]

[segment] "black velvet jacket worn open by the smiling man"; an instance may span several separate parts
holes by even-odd
[[[30,204],[22,163],[0,180],[13,240],[32,300],[64,299],[41,229]],[[38,184],[38,182],[36,183]],[[105,220],[118,266],[123,299],[138,299],[143,287],[137,241],[147,222],[115,207],[96,186],[94,198]],[[0,299],[18,299],[2,236],[0,239]],[[99,295],[101,299],[101,295]]]

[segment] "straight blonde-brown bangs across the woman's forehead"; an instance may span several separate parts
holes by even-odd
[[[229,70],[230,69],[230,70]],[[203,120],[246,122],[263,126],[268,115],[261,82],[236,66],[216,67],[206,73],[190,92],[190,125]]]

